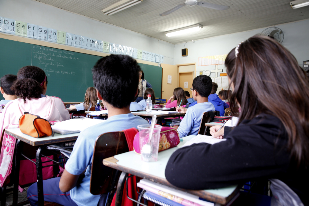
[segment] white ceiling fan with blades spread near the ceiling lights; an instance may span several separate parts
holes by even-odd
[[[186,0],[185,3],[179,4],[179,5],[175,6],[174,8],[167,10],[167,11],[165,11],[162,14],[159,14],[159,15],[160,16],[166,16],[166,15],[169,15],[170,13],[176,11],[177,9],[180,9],[183,6],[196,6],[196,5],[204,6],[206,8],[216,9],[216,10],[226,10],[226,9],[230,8],[230,6],[211,4],[211,3],[207,3],[207,2],[198,2],[197,0]]]

